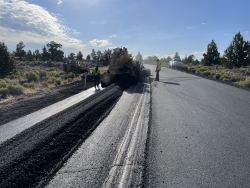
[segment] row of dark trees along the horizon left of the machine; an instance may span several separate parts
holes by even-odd
[[[40,52],[38,49],[35,50],[33,53],[31,50],[27,52],[24,50],[25,45],[22,41],[20,41],[16,45],[16,50],[13,50],[12,53],[8,51],[7,46],[4,42],[0,42],[0,77],[5,77],[7,75],[16,74],[17,73],[17,66],[16,66],[16,59],[15,57],[19,58],[20,60],[26,61],[57,61],[57,62],[66,62],[70,60],[83,60],[83,54],[79,51],[76,55],[75,53],[70,53],[68,58],[64,56],[64,52],[61,50],[62,45],[51,41],[47,45],[44,45],[42,51]],[[113,53],[110,49],[105,50],[103,53],[101,51],[95,52],[92,50],[92,53],[87,55],[87,60],[94,60],[97,61],[99,64],[108,65],[111,62],[113,57]]]

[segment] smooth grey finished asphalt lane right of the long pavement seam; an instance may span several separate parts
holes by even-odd
[[[146,187],[250,187],[248,91],[162,68],[151,92]]]

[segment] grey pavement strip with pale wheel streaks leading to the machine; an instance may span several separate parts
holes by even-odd
[[[149,83],[124,91],[47,188],[142,186],[149,109]]]

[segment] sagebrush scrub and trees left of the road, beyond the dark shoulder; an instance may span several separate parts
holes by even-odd
[[[77,71],[63,71],[63,64],[69,60],[78,60],[89,70],[88,77],[91,77],[90,72],[96,65],[103,74],[112,57],[111,50],[102,53],[93,49],[86,59],[83,59],[81,51],[76,56],[71,53],[66,58],[61,47],[61,44],[51,41],[43,47],[42,52],[35,50],[32,53],[29,50],[26,53],[21,41],[16,45],[16,51],[10,53],[5,43],[0,42],[0,57],[3,57],[0,58],[0,99],[81,81],[83,75]]]

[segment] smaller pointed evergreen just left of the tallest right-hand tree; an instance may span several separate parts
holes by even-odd
[[[203,54],[204,65],[211,66],[212,64],[220,64],[220,53],[214,40],[207,45],[207,53]]]

